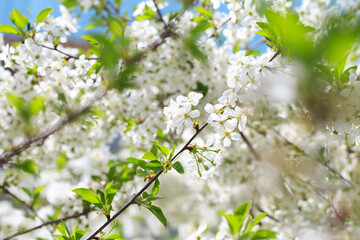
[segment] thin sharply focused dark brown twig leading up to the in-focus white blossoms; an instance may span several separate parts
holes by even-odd
[[[187,143],[183,146],[183,148],[175,155],[173,156],[173,158],[171,159],[171,161],[173,161],[174,159],[176,159],[182,152],[184,152],[185,150],[187,150],[188,146],[190,145],[190,143],[197,137],[197,135],[199,135],[199,133],[204,130],[204,128],[207,126],[208,124],[205,123],[201,128],[197,129],[195,134],[187,141]],[[101,227],[99,227],[93,234],[91,234],[86,240],[90,240],[90,239],[96,239],[96,235],[98,233],[100,233],[105,227],[107,227],[112,221],[114,221],[121,213],[123,213],[128,207],[130,207],[130,205],[135,204],[135,200],[136,198],[138,198],[148,187],[150,187],[150,185],[159,178],[159,176],[163,173],[163,170],[158,172],[153,178],[150,178],[150,180],[146,183],[146,185],[139,191],[137,192],[133,198],[131,198],[119,211],[117,211],[111,218],[109,218]]]

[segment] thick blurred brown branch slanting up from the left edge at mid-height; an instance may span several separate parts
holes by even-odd
[[[68,123],[73,122],[74,120],[76,120],[80,115],[82,115],[84,112],[86,112],[97,100],[99,100],[103,96],[105,96],[106,92],[107,91],[105,89],[99,90],[95,94],[95,96],[92,99],[90,99],[90,101],[88,101],[83,106],[81,106],[78,109],[71,112],[66,118],[60,120],[59,122],[57,122],[53,126],[48,127],[46,130],[39,133],[38,135],[35,135],[33,137],[29,137],[26,140],[25,143],[15,147],[14,149],[12,149],[10,151],[4,152],[0,156],[0,167],[7,164],[8,161],[12,157],[20,155],[23,151],[30,148],[33,144],[35,144],[35,143],[43,143],[50,135],[52,135],[55,132],[57,132],[58,130],[62,129]]]

